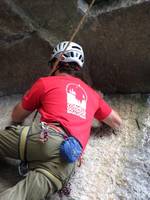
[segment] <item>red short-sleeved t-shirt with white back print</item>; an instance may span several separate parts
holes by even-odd
[[[22,100],[28,111],[38,109],[41,121],[60,122],[85,148],[93,118],[105,119],[111,107],[94,91],[73,76],[48,76],[38,79]]]

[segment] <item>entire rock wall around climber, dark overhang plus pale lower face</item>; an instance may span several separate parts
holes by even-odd
[[[76,37],[85,49],[85,71],[93,86],[104,93],[150,92],[150,1],[96,2]],[[0,1],[0,96],[22,93],[48,74],[52,46],[70,38],[87,7],[83,0]],[[0,98],[1,129],[20,98]],[[123,126],[113,132],[93,123],[70,196],[56,194],[51,200],[150,199],[150,97],[105,98],[122,116]],[[0,161],[0,192],[21,179],[17,163]]]

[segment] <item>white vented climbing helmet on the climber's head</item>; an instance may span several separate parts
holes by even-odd
[[[76,62],[82,68],[84,63],[84,52],[82,47],[75,42],[70,42],[69,45],[68,43],[68,41],[58,43],[53,49],[51,59],[59,58],[60,61],[63,62]],[[65,52],[63,52],[64,50]],[[61,53],[63,53],[63,55],[60,58]]]

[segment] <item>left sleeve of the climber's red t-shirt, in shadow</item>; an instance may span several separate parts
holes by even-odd
[[[38,79],[22,98],[22,106],[25,110],[34,111],[41,105],[41,99],[44,94],[44,84]]]

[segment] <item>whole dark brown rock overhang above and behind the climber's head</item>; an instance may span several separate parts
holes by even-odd
[[[83,0],[0,1],[0,96],[22,93],[49,73],[52,46],[70,39],[85,11],[81,2],[88,6]],[[104,8],[97,1],[75,38],[85,49],[85,72],[104,93],[148,93],[150,2],[120,0],[106,9],[109,2]]]

